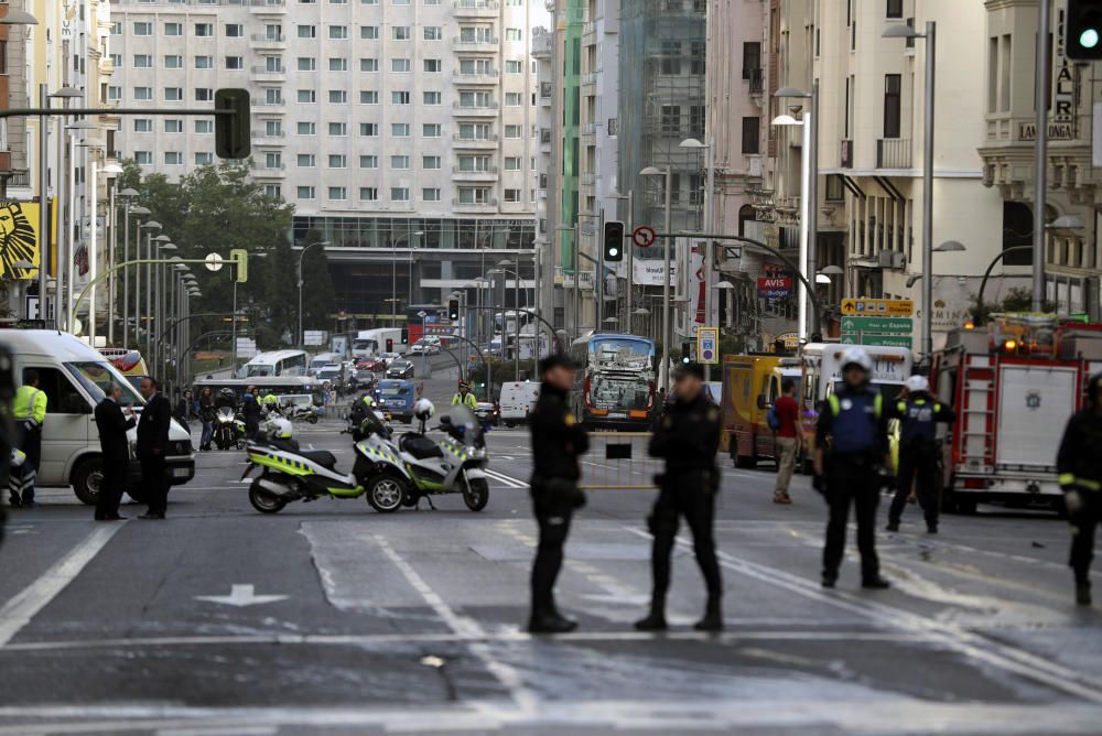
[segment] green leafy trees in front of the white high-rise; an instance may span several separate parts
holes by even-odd
[[[237,288],[237,307],[249,315],[259,346],[267,349],[298,329],[298,253],[289,240],[293,207],[267,195],[249,177],[249,165],[223,161],[199,166],[173,183],[163,174],[143,176],[137,163],[126,161],[119,187],[139,192],[138,203],[151,213],[148,219],[162,225],[161,232],[172,238],[181,258],[202,259],[210,252],[228,258],[230,248],[249,252],[249,281]],[[228,315],[234,305],[233,269],[212,272],[193,263],[192,272],[203,292],[192,301],[192,314]],[[192,334],[217,326],[225,326],[222,317],[196,318]]]

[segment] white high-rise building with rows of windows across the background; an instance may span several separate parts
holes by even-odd
[[[109,96],[202,107],[249,89],[255,178],[294,205],[296,242],[315,231],[364,267],[334,283],[371,322],[390,314],[392,260],[410,266],[401,301],[439,303],[483,274],[482,250],[530,255],[531,31],[548,17],[534,0],[115,0]],[[127,118],[119,149],[176,178],[214,162],[213,121]],[[364,286],[372,263],[385,290]]]

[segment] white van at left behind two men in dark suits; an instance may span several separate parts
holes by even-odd
[[[104,472],[93,412],[104,399],[104,387],[111,381],[121,386],[122,404],[132,403],[136,412],[141,411],[145,400],[106,357],[73,335],[50,329],[4,329],[0,331],[0,344],[11,350],[15,379],[22,381],[25,371],[36,370],[46,393],[39,485],[72,486],[77,498],[94,505]],[[137,430],[130,430],[129,440],[133,447]],[[169,427],[165,463],[172,485],[195,476],[191,435],[175,420]],[[142,500],[137,461],[130,463],[127,493]]]

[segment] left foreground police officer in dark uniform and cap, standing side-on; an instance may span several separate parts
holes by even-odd
[[[590,437],[570,411],[574,361],[552,355],[540,361],[540,398],[529,415],[532,432],[532,506],[540,527],[540,542],[532,564],[532,634],[564,634],[577,627],[554,605],[554,582],[562,567],[562,546],[574,510],[585,504],[577,487],[577,456],[590,448]]]

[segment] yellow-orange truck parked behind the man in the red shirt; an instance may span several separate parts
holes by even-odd
[[[736,467],[776,461],[776,441],[766,415],[786,378],[800,385],[800,361],[773,354],[728,355],[723,359],[723,433],[720,443]],[[799,401],[799,398],[797,398]]]

